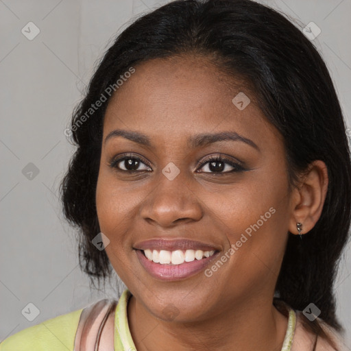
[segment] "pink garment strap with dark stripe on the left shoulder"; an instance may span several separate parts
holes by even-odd
[[[117,301],[100,300],[83,308],[73,351],[113,351]]]

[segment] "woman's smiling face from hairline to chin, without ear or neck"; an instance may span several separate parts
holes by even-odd
[[[291,217],[280,134],[245,88],[229,89],[204,59],[135,69],[104,120],[96,202],[112,266],[136,301],[164,320],[271,304]],[[143,136],[106,140],[114,130]],[[238,136],[201,137],[219,133]],[[141,249],[163,249],[162,262],[170,255],[180,264],[154,263]],[[193,261],[186,251],[199,249],[215,254]]]

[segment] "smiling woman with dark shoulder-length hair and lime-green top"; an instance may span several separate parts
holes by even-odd
[[[1,350],[343,350],[346,125],[319,53],[250,0],[180,0],[118,36],[62,181],[93,282],[126,289]],[[112,267],[111,267],[112,266]]]

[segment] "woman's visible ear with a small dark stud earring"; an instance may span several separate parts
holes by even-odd
[[[289,232],[298,234],[296,223],[302,223],[301,234],[309,232],[317,223],[328,191],[328,169],[321,160],[315,160],[304,173],[300,184],[293,189]]]

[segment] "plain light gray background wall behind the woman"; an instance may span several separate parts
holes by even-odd
[[[0,0],[1,244],[0,340],[119,291],[90,291],[78,266],[74,231],[64,221],[58,184],[73,147],[64,135],[95,61],[134,16],[168,1]],[[350,128],[351,0],[258,1],[322,30],[313,43],[335,82]],[[29,21],[40,34],[28,40]],[[23,168],[32,162],[32,180]],[[27,166],[33,167],[33,166]],[[337,313],[351,346],[350,244],[336,282]],[[122,286],[123,287],[123,286]],[[40,310],[33,322],[21,311]],[[351,350],[351,347],[350,347]]]

